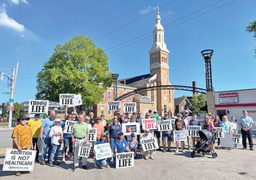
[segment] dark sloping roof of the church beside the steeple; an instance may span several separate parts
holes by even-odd
[[[153,75],[150,74],[144,74],[144,75],[138,75],[134,76],[132,78],[126,78],[122,80],[118,80],[119,83],[125,84],[126,86],[130,87],[143,87],[148,80],[150,80],[153,77]],[[125,80],[125,82],[124,82]]]

